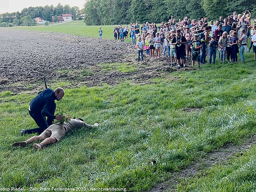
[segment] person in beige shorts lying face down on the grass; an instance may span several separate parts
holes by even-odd
[[[94,128],[98,127],[99,124],[95,123],[93,125],[86,124],[84,120],[77,118],[77,119],[71,119],[69,122],[64,122],[63,124],[57,123],[52,124],[47,129],[44,130],[39,136],[32,136],[30,139],[14,143],[12,146],[22,146],[25,147],[27,144],[37,141],[37,140],[43,140],[40,144],[34,144],[35,149],[43,149],[45,145],[53,144],[59,141],[63,136],[65,136],[68,132],[71,132],[74,129],[79,128]]]

